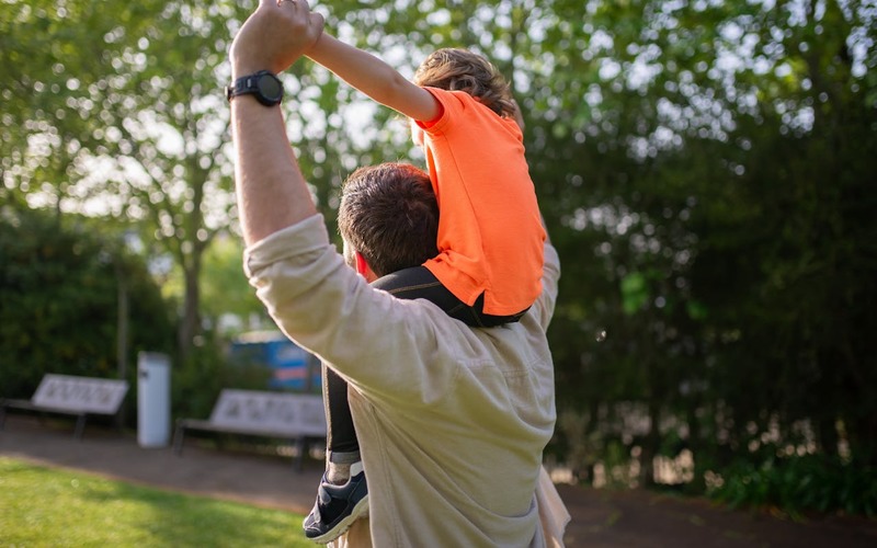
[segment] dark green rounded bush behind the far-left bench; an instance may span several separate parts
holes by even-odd
[[[4,397],[30,398],[45,373],[118,376],[121,278],[129,299],[129,361],[141,350],[170,350],[172,324],[146,265],[91,228],[36,210],[0,212]]]

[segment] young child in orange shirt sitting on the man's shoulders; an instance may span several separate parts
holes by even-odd
[[[440,210],[438,255],[374,285],[400,298],[428,298],[474,327],[517,321],[542,290],[545,231],[524,158],[520,113],[501,75],[468,50],[440,49],[410,82],[326,33],[307,56],[407,116],[426,158]],[[432,293],[422,292],[424,286]],[[320,543],[341,535],[367,510],[355,431],[349,416],[337,416],[345,407],[337,400],[346,399],[346,386],[332,374],[324,375],[324,383],[329,464],[304,524],[306,535]],[[335,422],[348,424],[349,432],[339,435]]]

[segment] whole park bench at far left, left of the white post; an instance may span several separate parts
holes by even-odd
[[[127,391],[127,380],[47,373],[30,400],[0,400],[0,430],[5,425],[7,411],[11,409],[70,414],[77,418],[73,436],[81,439],[88,415],[115,415]]]

